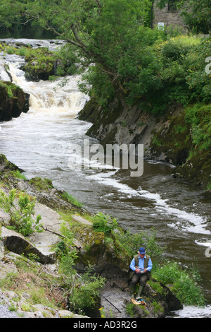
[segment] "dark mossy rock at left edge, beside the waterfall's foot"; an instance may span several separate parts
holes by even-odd
[[[30,95],[24,93],[17,85],[0,82],[0,121],[10,121],[29,110]]]

